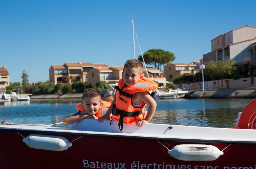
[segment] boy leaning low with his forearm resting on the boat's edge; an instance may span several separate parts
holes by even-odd
[[[111,103],[101,101],[101,94],[99,91],[89,88],[84,91],[82,103],[76,105],[78,112],[74,115],[65,117],[64,125],[72,124],[83,119],[98,119],[103,114],[103,108],[110,107]],[[109,116],[107,117],[109,119]]]

